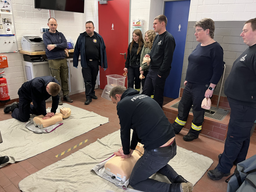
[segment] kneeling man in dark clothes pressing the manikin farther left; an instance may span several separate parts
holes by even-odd
[[[30,114],[52,117],[56,113],[59,103],[60,85],[57,79],[51,76],[36,77],[23,83],[18,90],[19,103],[6,105],[4,113],[12,112],[12,117],[26,122]],[[46,113],[45,100],[52,96],[52,108]],[[31,104],[33,102],[33,105]]]

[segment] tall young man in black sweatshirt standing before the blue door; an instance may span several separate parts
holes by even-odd
[[[175,40],[172,34],[166,31],[166,24],[167,18],[165,15],[155,17],[153,27],[158,35],[155,36],[151,52],[145,55],[145,57],[151,59],[151,62],[142,90],[142,94],[147,96],[151,96],[154,91],[154,100],[158,102],[160,107],[164,102],[165,81],[171,71],[175,49]]]

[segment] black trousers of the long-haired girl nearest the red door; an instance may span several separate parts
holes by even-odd
[[[128,88],[140,89],[140,66],[129,66],[127,71],[127,78],[128,78]]]

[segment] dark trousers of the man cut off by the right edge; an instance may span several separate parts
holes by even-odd
[[[233,163],[245,160],[250,144],[251,127],[256,119],[256,108],[235,104],[230,100],[229,105],[231,113],[228,133],[224,151],[216,167],[223,173],[229,173]]]

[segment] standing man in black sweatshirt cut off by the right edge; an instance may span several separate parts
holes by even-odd
[[[217,167],[207,172],[212,180],[230,175],[233,164],[245,160],[256,120],[256,18],[245,22],[240,36],[249,47],[235,60],[225,82],[231,113],[224,151]]]

